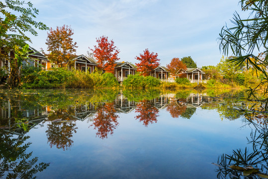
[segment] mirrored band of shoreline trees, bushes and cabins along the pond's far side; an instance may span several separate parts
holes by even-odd
[[[211,94],[212,96],[207,96]],[[149,126],[158,121],[159,112],[166,110],[173,118],[190,119],[197,108],[216,109],[222,118],[237,119],[243,112],[241,95],[210,91],[160,90],[44,90],[36,92],[0,92],[0,128],[22,135],[36,125],[47,127],[50,147],[70,150],[77,132],[77,121],[89,122],[96,136],[104,139],[119,126],[118,113],[135,113],[135,119]],[[33,100],[34,99],[34,100]],[[28,129],[27,129],[28,127]]]

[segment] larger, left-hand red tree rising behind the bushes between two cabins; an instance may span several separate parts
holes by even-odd
[[[108,37],[102,36],[98,39],[96,38],[96,42],[98,45],[95,45],[94,49],[89,49],[96,58],[98,68],[107,73],[114,73],[114,62],[120,59],[117,57],[119,50],[114,46],[113,40],[108,41]]]

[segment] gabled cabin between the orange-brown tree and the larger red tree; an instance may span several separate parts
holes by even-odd
[[[85,55],[79,55],[70,61],[74,61],[74,68],[76,70],[80,70],[86,73],[92,73],[97,66],[97,63],[95,61],[89,59]],[[68,68],[70,69],[70,67]]]

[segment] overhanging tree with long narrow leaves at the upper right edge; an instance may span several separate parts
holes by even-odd
[[[230,59],[235,64],[246,64],[253,67],[255,72],[264,74],[263,80],[256,87],[250,89],[249,97],[254,91],[268,84],[268,5],[267,0],[240,0],[243,11],[249,15],[241,19],[235,12],[232,27],[224,26],[220,33],[220,49],[224,54],[233,53],[236,56]],[[268,88],[264,88],[265,94]],[[268,98],[265,100],[265,109],[268,109]]]

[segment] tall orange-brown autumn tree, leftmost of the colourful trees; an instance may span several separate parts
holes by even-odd
[[[45,55],[52,63],[63,67],[64,63],[76,57],[77,43],[73,42],[73,34],[73,29],[68,25],[57,26],[56,30],[50,28],[46,42],[49,53]]]

